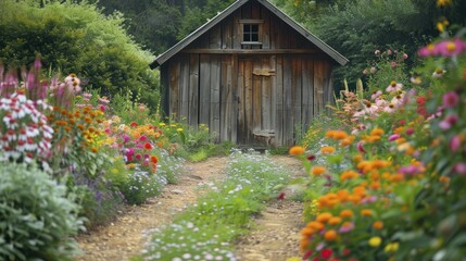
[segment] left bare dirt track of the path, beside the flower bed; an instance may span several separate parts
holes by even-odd
[[[92,231],[77,238],[85,251],[76,261],[124,261],[140,253],[146,232],[172,221],[197,200],[199,185],[223,176],[228,158],[211,158],[188,164],[186,173],[176,185],[167,185],[163,192],[146,204],[128,207],[128,210],[111,225]]]

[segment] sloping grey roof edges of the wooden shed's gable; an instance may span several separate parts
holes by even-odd
[[[151,64],[151,67],[156,67],[165,63],[168,59],[171,59],[173,55],[178,53],[180,50],[182,50],[185,47],[187,47],[189,44],[198,39],[201,35],[203,35],[205,32],[210,30],[212,27],[217,25],[219,22],[222,22],[224,18],[226,18],[228,15],[234,13],[236,10],[241,8],[244,3],[253,1],[253,0],[238,0],[234,2],[231,5],[229,5],[227,9],[225,9],[222,13],[218,13],[215,17],[210,20],[207,23],[199,27],[197,30],[192,32],[190,35],[185,37],[185,39],[180,40],[178,44],[173,46],[171,49],[165,51],[164,53],[160,54],[155,61]],[[299,34],[304,36],[307,40],[310,40],[312,44],[314,44],[316,47],[318,47],[320,50],[323,50],[325,53],[327,53],[330,58],[332,58],[335,61],[337,61],[340,65],[344,65],[348,62],[348,59],[341,55],[338,51],[336,51],[333,48],[325,44],[323,40],[320,40],[315,35],[311,34],[308,30],[306,30],[304,27],[299,25],[297,22],[294,22],[292,18],[290,18],[288,15],[286,15],[284,12],[281,12],[279,9],[277,9],[274,4],[269,3],[267,0],[255,0],[259,3],[261,3],[263,7],[265,7],[268,11],[276,14],[279,18],[281,18],[286,24],[291,26],[293,29],[295,29]]]

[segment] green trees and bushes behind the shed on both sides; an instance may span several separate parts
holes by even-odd
[[[0,60],[8,61],[8,66],[29,65],[40,51],[50,74],[75,72],[84,78],[85,88],[98,88],[114,100],[139,99],[154,111],[159,83],[150,62],[231,2],[7,0],[0,3]],[[343,78],[354,86],[357,78],[367,76],[364,69],[377,67],[377,61],[370,61],[374,50],[402,50],[413,65],[416,48],[429,42],[436,27],[442,26],[439,17],[466,23],[462,15],[466,1],[441,9],[425,0],[273,2],[350,60],[336,72],[339,88]]]

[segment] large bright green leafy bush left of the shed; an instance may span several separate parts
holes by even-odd
[[[137,90],[156,104],[153,57],[126,34],[121,14],[105,16],[93,4],[47,3],[43,8],[5,0],[0,3],[0,60],[9,66],[30,64],[37,54],[45,67],[76,73],[88,88],[114,96]]]

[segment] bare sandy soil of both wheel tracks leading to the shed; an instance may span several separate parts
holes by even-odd
[[[274,161],[302,175],[301,163],[291,157],[275,156]],[[173,216],[196,202],[202,186],[223,178],[228,158],[210,158],[188,163],[178,184],[167,185],[163,192],[141,206],[128,207],[108,226],[77,238],[84,254],[76,261],[125,261],[142,250],[148,232],[169,223]],[[238,240],[237,254],[243,261],[282,261],[299,256],[299,231],[302,204],[274,200],[259,215],[251,234]]]

